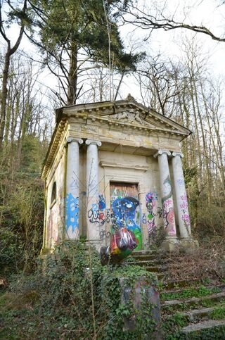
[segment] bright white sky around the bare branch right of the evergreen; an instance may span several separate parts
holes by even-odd
[[[139,1],[143,3],[144,1]],[[145,1],[146,4],[150,4],[153,1]],[[169,3],[170,13],[174,13],[174,20],[182,21],[185,18],[185,23],[191,25],[205,25],[205,27],[212,30],[215,35],[221,37],[224,34],[225,37],[225,5],[219,6],[219,0],[168,0],[168,1],[157,1],[157,5],[164,5]],[[223,13],[224,12],[224,13]],[[185,14],[184,14],[185,13]],[[132,28],[122,27],[122,36],[124,39],[127,37],[127,32],[130,32]],[[138,29],[135,31],[135,36],[145,37],[148,35],[147,30]],[[179,61],[182,58],[182,48],[184,46],[183,41],[185,39],[191,39],[195,37],[196,42],[198,41],[202,45],[202,51],[205,55],[210,55],[207,72],[214,77],[225,78],[225,42],[216,42],[205,34],[191,32],[190,30],[153,30],[148,39],[147,44],[149,45],[150,53],[152,55],[158,52],[162,53],[165,58]],[[144,47],[145,49],[145,47]],[[123,87],[124,95],[127,92],[132,92],[131,79],[127,79],[127,86]],[[137,94],[137,89],[134,90]]]

